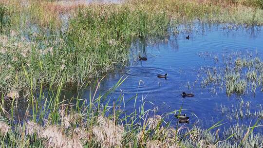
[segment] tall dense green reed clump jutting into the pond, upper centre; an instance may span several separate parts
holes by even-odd
[[[126,5],[99,5],[79,10],[70,21],[63,52],[69,74],[81,82],[125,64],[135,37],[165,36],[169,18],[165,12],[150,14]],[[99,72],[99,73],[98,73]]]

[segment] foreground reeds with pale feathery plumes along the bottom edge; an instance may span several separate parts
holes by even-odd
[[[109,103],[110,93],[124,79],[105,94],[91,94],[86,100],[79,97],[60,102],[63,85],[55,92],[43,93],[38,99],[30,96],[26,115],[18,117],[19,95],[13,92],[10,100],[1,103],[0,140],[7,148],[240,148],[258,146],[263,136],[255,134],[258,125],[233,125],[219,131],[221,122],[209,129],[184,124],[171,126],[166,115],[157,115],[154,110],[145,110],[145,101],[139,110],[131,113],[123,110],[124,97]],[[99,82],[95,86],[95,92]],[[51,90],[52,91],[52,90]],[[97,92],[99,93],[99,92]],[[45,96],[47,95],[47,96]],[[98,97],[95,97],[98,96]],[[5,103],[11,102],[11,106]],[[76,103],[71,103],[76,102]],[[135,105],[135,104],[134,104]],[[182,113],[183,110],[168,114]],[[154,113],[154,115],[152,115]],[[16,121],[14,121],[16,119]],[[23,120],[24,124],[16,124]],[[217,130],[215,130],[217,129]]]

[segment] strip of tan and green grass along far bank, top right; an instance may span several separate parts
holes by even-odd
[[[148,11],[166,10],[175,21],[200,19],[208,22],[228,22],[246,25],[263,23],[263,10],[256,0],[129,0],[135,8]]]

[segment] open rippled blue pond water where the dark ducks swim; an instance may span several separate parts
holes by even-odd
[[[111,101],[123,96],[127,112],[140,110],[144,101],[144,110],[155,108],[155,114],[165,114],[184,109],[189,117],[188,125],[201,125],[209,128],[220,120],[225,126],[237,122],[253,125],[258,116],[246,115],[246,111],[262,111],[263,92],[260,89],[241,96],[227,96],[225,89],[202,88],[201,68],[224,68],[223,57],[236,53],[247,55],[256,53],[262,59],[263,27],[233,27],[226,24],[182,25],[177,35],[162,41],[151,43],[138,39],[131,46],[129,66],[107,74],[100,84],[103,93],[113,87],[118,80],[128,76],[122,85],[110,95]],[[186,39],[187,36],[189,39]],[[146,56],[147,61],[139,61],[137,56]],[[157,78],[157,74],[168,74],[167,79]],[[194,97],[183,98],[182,92],[192,92]],[[66,92],[72,96],[73,92]],[[82,93],[82,98],[89,98],[90,90]],[[133,101],[129,101],[130,98]],[[242,103],[244,102],[244,103]],[[122,104],[123,105],[123,104]],[[227,109],[228,108],[228,109]],[[228,110],[228,111],[226,111]],[[242,118],[235,118],[235,113],[243,111]],[[230,112],[230,113],[229,113]],[[169,115],[173,124],[177,119]],[[261,125],[260,121],[258,125]],[[262,131],[262,128],[259,128]]]

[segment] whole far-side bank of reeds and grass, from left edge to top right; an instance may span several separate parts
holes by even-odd
[[[0,90],[4,94],[11,88],[28,90],[31,84],[35,90],[40,83],[45,86],[52,82],[57,86],[60,77],[69,85],[82,85],[127,65],[129,48],[136,38],[166,37],[174,25],[186,20],[262,23],[259,17],[262,10],[240,1],[129,0],[121,4],[67,5],[56,0],[1,0],[1,3],[1,14],[4,18],[8,14],[10,20],[5,27],[7,32],[0,37]],[[241,12],[246,14],[243,19],[238,15]],[[25,73],[32,77],[31,84],[27,83]]]

